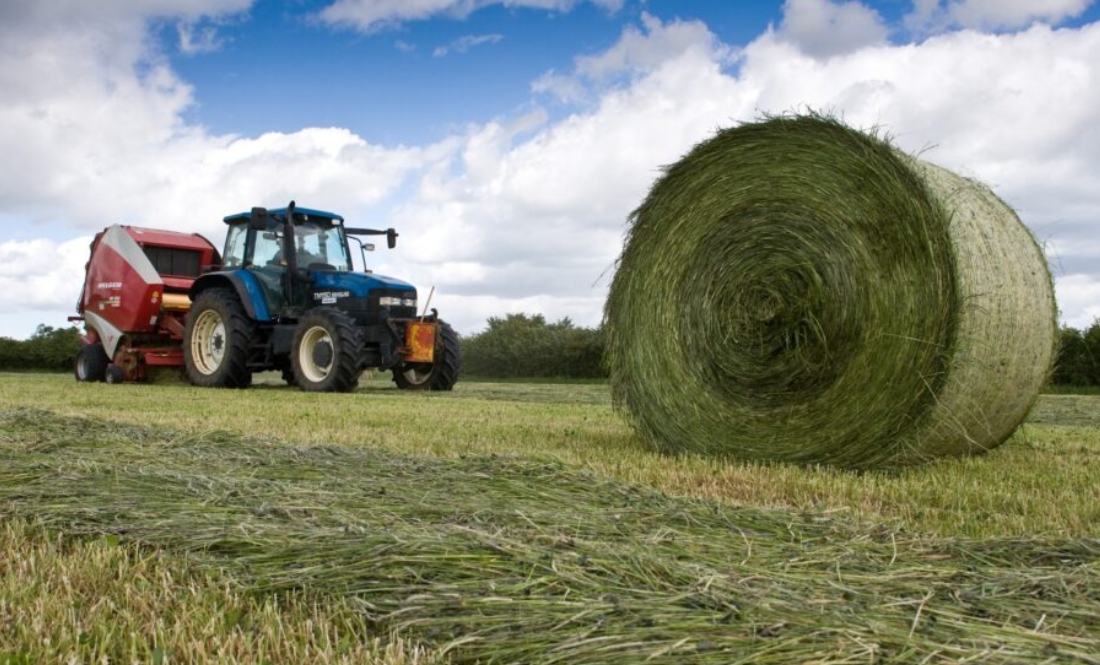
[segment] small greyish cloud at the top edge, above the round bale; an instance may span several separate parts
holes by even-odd
[[[785,0],[778,34],[803,53],[826,58],[883,44],[888,32],[882,16],[861,2]]]

